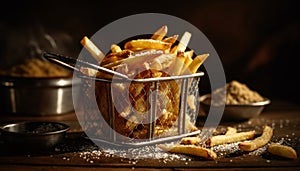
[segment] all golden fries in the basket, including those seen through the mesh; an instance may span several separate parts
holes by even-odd
[[[199,67],[203,64],[209,54],[201,54],[196,56],[193,50],[188,49],[188,43],[191,39],[191,33],[185,32],[178,41],[179,35],[167,36],[168,27],[162,26],[155,31],[149,38],[133,39],[125,42],[124,45],[112,44],[110,53],[105,55],[101,50],[86,36],[81,40],[81,44],[98,62],[98,65],[118,72],[131,79],[158,78],[178,75],[187,75],[196,73]],[[81,72],[88,76],[97,78],[112,79],[114,75],[94,70],[92,68],[82,67]],[[177,80],[176,80],[177,81]],[[170,134],[170,128],[177,124],[177,118],[180,108],[180,83],[175,80],[161,81],[156,90],[159,90],[157,95],[157,112],[154,136],[162,136]],[[99,85],[97,96],[103,98],[105,94],[103,85]],[[120,84],[112,84],[114,89],[115,99],[121,99],[118,104],[118,110],[114,110],[115,130],[123,135],[134,138],[147,138],[148,128],[150,123],[148,117],[144,115],[149,110],[149,99],[151,91],[155,90],[154,86],[149,83],[132,82],[128,85],[127,82]],[[129,102],[124,97],[124,94],[129,90]],[[103,102],[104,101],[104,102]],[[104,109],[105,101],[101,101],[100,111],[102,114],[110,116]],[[196,111],[196,98],[189,96],[188,105]],[[103,109],[102,109],[102,108]],[[132,107],[132,108],[131,108]],[[133,110],[134,109],[134,110]],[[186,117],[188,119],[188,117]],[[185,122],[185,121],[183,121]],[[196,128],[191,123],[186,124],[189,131],[194,131]],[[176,133],[178,133],[176,131]]]

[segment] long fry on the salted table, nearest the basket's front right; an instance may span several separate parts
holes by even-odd
[[[209,160],[216,160],[217,154],[212,151],[211,149],[195,146],[195,145],[165,145],[165,144],[158,144],[157,145],[162,150],[171,152],[171,153],[180,153],[180,154],[188,154],[203,157]]]

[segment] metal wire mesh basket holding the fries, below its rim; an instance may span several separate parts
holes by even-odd
[[[203,75],[144,79],[81,76],[81,125],[90,139],[116,146],[149,145],[199,134],[195,122],[198,83]]]

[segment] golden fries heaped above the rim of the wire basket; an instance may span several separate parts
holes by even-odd
[[[90,52],[100,66],[134,77],[142,71],[149,71],[152,77],[184,75],[197,72],[209,54],[194,57],[193,50],[186,50],[191,33],[185,32],[178,42],[179,35],[167,37],[167,26],[162,26],[149,39],[130,40],[124,47],[111,45],[111,53],[104,55],[86,36],[81,44]],[[82,71],[89,76],[111,78],[105,73],[90,68]],[[149,74],[148,74],[149,75]]]

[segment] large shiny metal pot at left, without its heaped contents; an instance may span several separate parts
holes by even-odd
[[[74,111],[72,87],[80,80],[65,78],[0,77],[0,111],[22,115],[57,115]],[[78,92],[78,91],[73,91]]]

